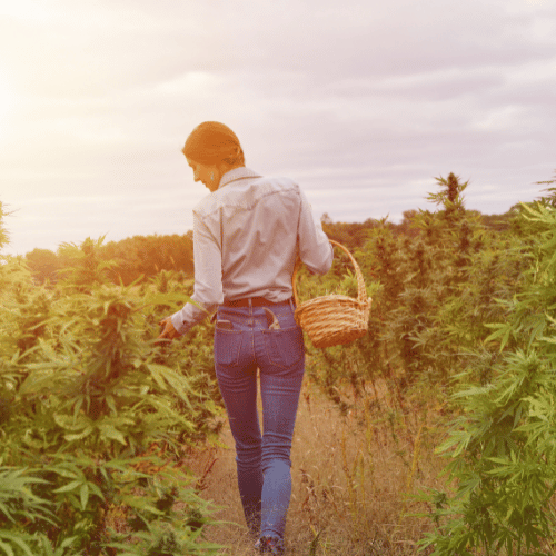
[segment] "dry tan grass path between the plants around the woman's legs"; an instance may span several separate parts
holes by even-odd
[[[294,437],[292,496],[286,526],[288,554],[310,556],[414,555],[429,527],[408,514],[426,510],[406,496],[440,487],[443,463],[434,455],[438,410],[430,404],[395,403],[386,383],[375,384],[357,409],[341,416],[306,381]],[[205,475],[202,496],[220,509],[207,538],[224,555],[251,555],[236,483],[234,441],[206,448],[190,466]]]

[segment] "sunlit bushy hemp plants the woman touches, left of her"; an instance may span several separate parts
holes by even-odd
[[[0,480],[0,554],[214,554],[207,505],[179,456],[211,435],[219,407],[210,379],[166,365],[146,331],[160,305],[183,298],[106,284],[97,247],[68,249],[64,279],[36,288],[43,314],[9,296],[0,479],[18,480]],[[29,338],[18,325],[32,309]]]

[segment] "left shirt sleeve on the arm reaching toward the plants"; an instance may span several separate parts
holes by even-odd
[[[191,299],[171,317],[173,328],[183,335],[215,312],[224,302],[222,256],[219,235],[193,212],[195,286]]]

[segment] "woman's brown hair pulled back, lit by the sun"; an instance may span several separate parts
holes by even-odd
[[[203,121],[197,126],[181,151],[201,165],[245,165],[244,150],[236,133],[218,121]]]

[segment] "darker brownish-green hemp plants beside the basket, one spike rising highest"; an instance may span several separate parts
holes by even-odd
[[[419,381],[446,385],[461,370],[461,347],[476,339],[471,311],[478,302],[492,305],[486,282],[496,290],[497,278],[485,274],[487,259],[480,258],[493,242],[478,215],[465,209],[468,183],[450,173],[437,186],[428,197],[436,211],[408,212],[399,228],[378,222],[356,254],[373,297],[369,335],[348,349],[318,354],[317,379],[337,401],[341,379],[356,393],[377,375],[394,380],[398,394]],[[473,335],[486,336],[480,325]]]

